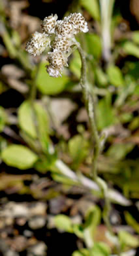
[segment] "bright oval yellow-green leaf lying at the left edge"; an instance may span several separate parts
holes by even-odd
[[[7,165],[19,169],[28,169],[33,166],[38,157],[29,148],[22,145],[12,144],[1,153],[1,158]]]

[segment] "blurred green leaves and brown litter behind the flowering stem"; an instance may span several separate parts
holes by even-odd
[[[25,43],[40,20],[82,12],[97,125],[106,135],[99,175],[110,187],[110,221],[122,256],[138,255],[138,0],[0,1],[0,253],[107,256],[115,242],[102,221],[104,200],[91,181],[90,138],[74,52],[62,77]],[[64,246],[65,245],[65,246]]]

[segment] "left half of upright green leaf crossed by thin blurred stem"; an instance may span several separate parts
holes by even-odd
[[[35,129],[35,125],[33,123],[33,110],[31,108],[31,103],[29,101],[24,101],[18,110],[18,121],[20,127],[33,137],[33,139],[37,138],[37,133]]]

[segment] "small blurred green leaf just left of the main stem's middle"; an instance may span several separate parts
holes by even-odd
[[[82,135],[75,135],[68,143],[69,153],[76,165],[80,164],[88,154],[89,143]]]

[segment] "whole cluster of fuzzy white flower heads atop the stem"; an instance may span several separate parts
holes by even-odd
[[[71,46],[76,42],[74,35],[79,32],[86,33],[87,22],[81,13],[72,13],[64,20],[57,20],[57,14],[52,14],[42,21],[42,30],[43,33],[33,34],[27,43],[26,51],[36,56],[46,47],[52,47],[52,51],[47,54],[49,65],[46,68],[50,76],[59,77],[63,67],[68,66],[67,57],[71,52]]]

